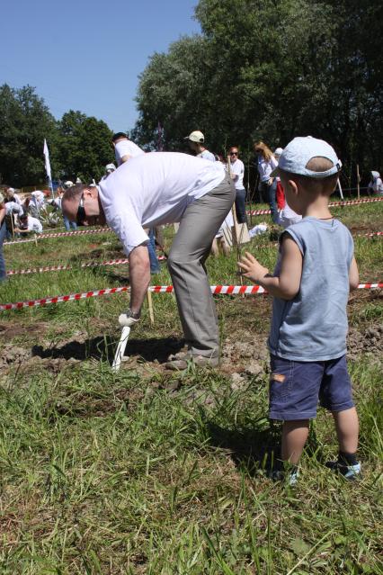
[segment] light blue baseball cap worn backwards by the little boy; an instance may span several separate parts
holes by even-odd
[[[307,164],[313,157],[326,157],[333,162],[333,167],[325,172],[313,172],[307,169]],[[341,160],[336,156],[335,150],[324,139],[316,139],[311,136],[292,139],[284,148],[272,177],[279,174],[279,169],[291,174],[309,175],[310,177],[324,178],[340,172]]]

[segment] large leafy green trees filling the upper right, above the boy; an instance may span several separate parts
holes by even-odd
[[[344,161],[381,166],[383,4],[200,0],[201,35],[155,54],[140,76],[136,135],[167,148],[202,130],[210,149],[331,141]]]

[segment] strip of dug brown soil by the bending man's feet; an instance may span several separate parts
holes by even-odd
[[[34,330],[47,328],[33,326]],[[0,337],[10,337],[22,334],[22,326],[0,325]],[[2,331],[1,331],[2,330]],[[12,334],[12,336],[10,335]],[[114,357],[118,341],[115,337],[94,337],[84,339],[78,337],[69,340],[62,346],[32,346],[30,349],[20,346],[4,346],[0,357],[0,372],[4,373],[9,368],[18,367],[25,373],[39,373],[47,370],[49,373],[60,373],[64,368],[80,364],[84,360],[93,358],[99,361],[108,358],[111,363]],[[244,337],[244,332],[241,332]],[[80,341],[79,341],[80,340]],[[225,373],[231,380],[233,390],[243,388],[254,378],[262,377],[269,369],[269,353],[266,345],[267,337],[257,335],[254,338],[241,339],[227,338],[223,343],[220,372]],[[383,357],[383,325],[375,324],[370,328],[359,330],[350,328],[347,339],[348,357],[356,361],[362,354],[370,355],[372,361],[381,362]],[[165,368],[168,355],[175,354],[183,348],[183,340],[178,337],[159,337],[147,339],[129,340],[126,354],[121,369],[128,369],[138,373],[143,378],[150,380],[156,374],[163,373],[164,382],[153,382],[154,387],[176,391],[181,385],[171,378]],[[174,373],[172,373],[174,376]],[[170,387],[169,387],[170,386]]]

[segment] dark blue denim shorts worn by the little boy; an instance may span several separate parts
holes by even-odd
[[[271,419],[315,418],[318,401],[330,411],[354,405],[345,355],[325,362],[296,362],[272,355],[271,371]]]

